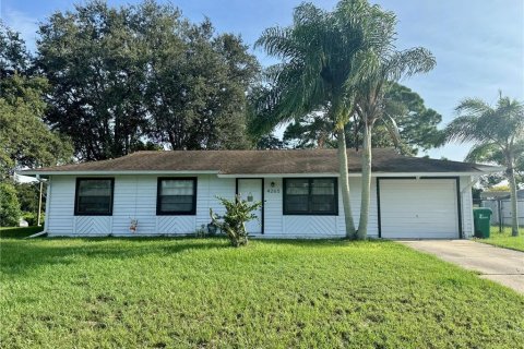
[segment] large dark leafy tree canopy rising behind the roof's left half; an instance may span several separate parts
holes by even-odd
[[[209,20],[192,24],[154,1],[90,1],[53,13],[39,33],[46,121],[73,140],[79,159],[247,145],[246,92],[259,65]]]

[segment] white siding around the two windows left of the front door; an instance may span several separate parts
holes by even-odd
[[[176,177],[176,176],[175,176]],[[156,216],[156,176],[116,176],[112,216],[74,216],[74,176],[52,176],[46,227],[50,236],[187,234],[210,222],[210,207],[224,209],[215,195],[233,198],[235,179],[198,176],[195,216]],[[135,233],[129,232],[138,219]]]

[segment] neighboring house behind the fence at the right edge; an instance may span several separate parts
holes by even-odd
[[[483,192],[483,207],[491,208],[491,224],[501,222],[504,226],[511,226],[511,198],[510,192]],[[519,225],[524,225],[524,189],[516,191],[516,202],[519,212]],[[501,221],[502,220],[502,221]]]

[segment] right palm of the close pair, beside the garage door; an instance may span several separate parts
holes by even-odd
[[[389,41],[394,41],[394,27],[386,33]],[[403,77],[433,69],[436,60],[425,48],[412,48],[396,51],[393,45],[384,47],[383,51],[367,51],[359,57],[356,70],[362,75],[354,77],[356,116],[361,124],[362,135],[362,190],[360,202],[360,219],[357,238],[366,239],[368,231],[369,202],[371,190],[371,139],[373,125],[381,120],[390,130],[395,144],[400,143],[398,130],[394,120],[395,101],[385,98],[393,83]]]

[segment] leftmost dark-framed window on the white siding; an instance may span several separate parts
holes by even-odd
[[[112,215],[114,184],[112,178],[78,178],[74,215]]]

